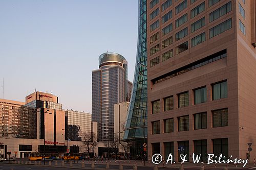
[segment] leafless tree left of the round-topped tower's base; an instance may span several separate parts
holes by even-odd
[[[84,147],[87,148],[87,152],[90,153],[90,150],[93,147],[97,146],[97,137],[95,133],[92,132],[86,132],[82,135],[82,142]]]

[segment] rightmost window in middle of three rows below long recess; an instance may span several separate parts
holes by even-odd
[[[220,109],[212,111],[212,127],[228,126],[228,111]]]

